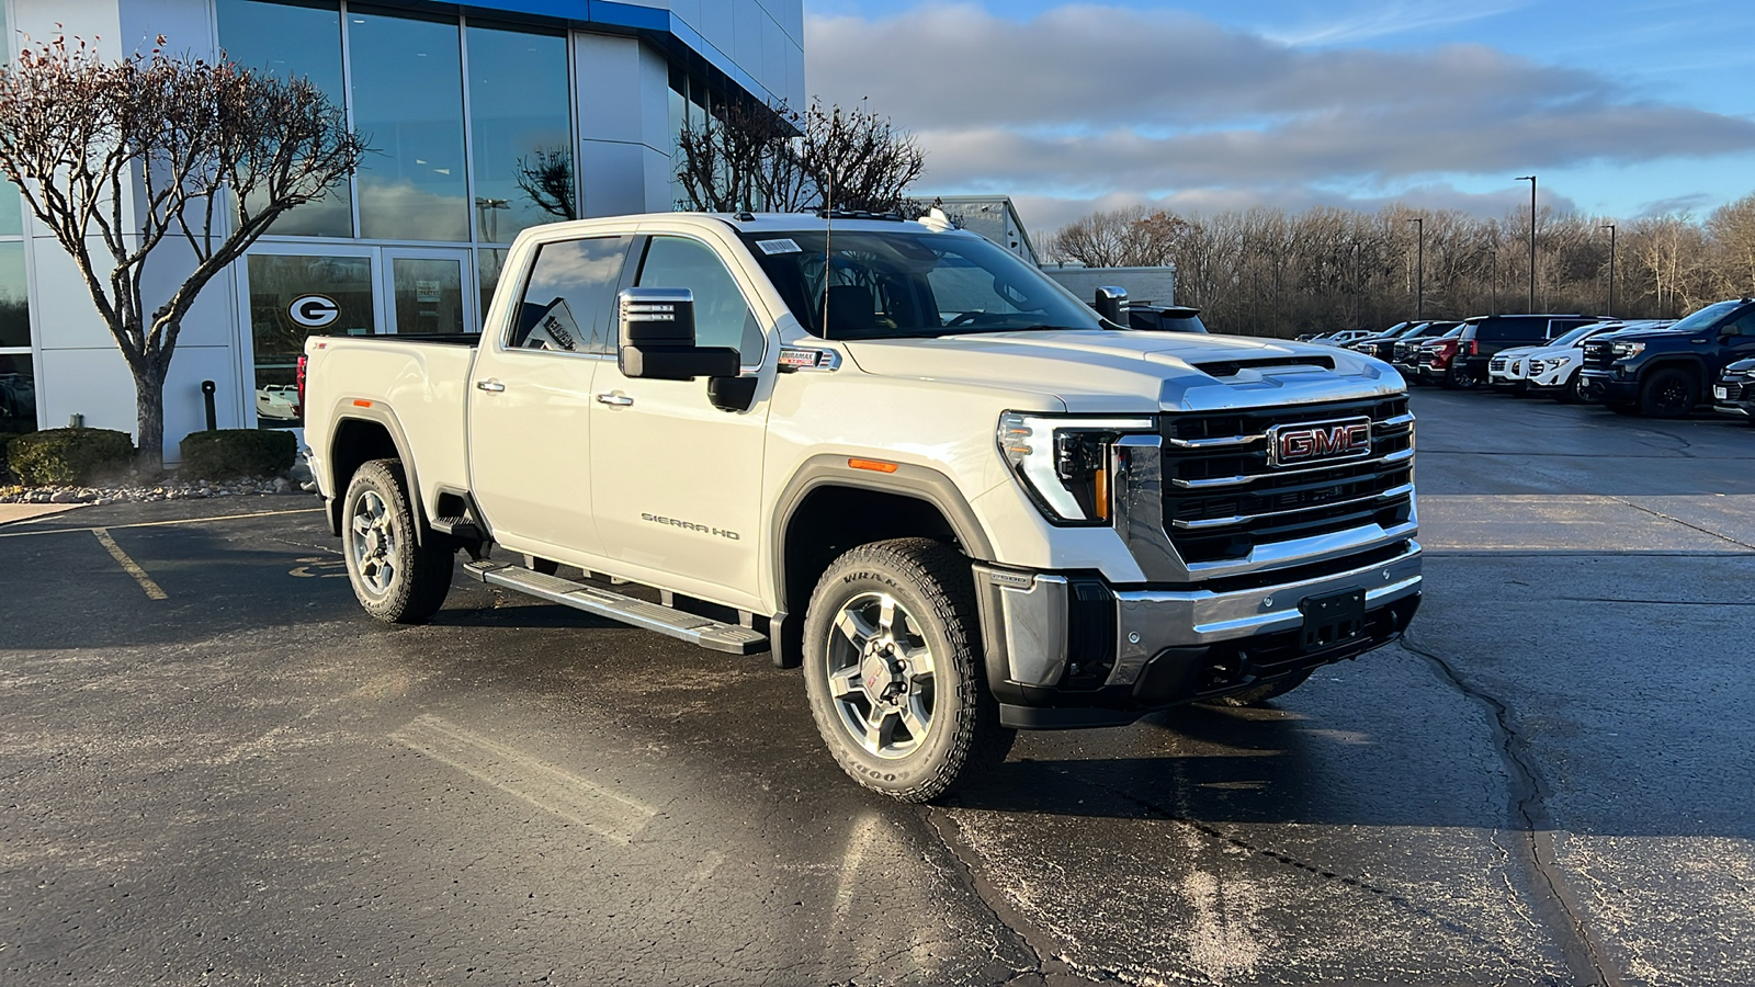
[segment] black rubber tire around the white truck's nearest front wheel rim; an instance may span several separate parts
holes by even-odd
[[[879,757],[862,746],[830,692],[830,636],[844,608],[888,595],[932,655],[932,715],[918,748]],[[925,537],[862,544],[835,558],[804,618],[804,681],[816,729],[855,782],[904,803],[932,801],[1006,760],[1016,731],[986,687],[969,560]],[[837,645],[837,650],[844,650]],[[879,745],[881,746],[881,745]]]

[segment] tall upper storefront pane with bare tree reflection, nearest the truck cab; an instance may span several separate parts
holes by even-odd
[[[567,98],[567,39],[470,26],[469,116],[476,239],[579,218]]]

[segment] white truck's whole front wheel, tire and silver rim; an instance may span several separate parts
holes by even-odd
[[[969,560],[930,539],[837,558],[804,618],[811,715],[855,782],[925,803],[1006,759],[983,681]]]

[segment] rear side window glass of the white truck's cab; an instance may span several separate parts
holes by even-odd
[[[542,244],[505,344],[512,349],[614,353],[611,309],[628,242],[628,237],[591,237]]]

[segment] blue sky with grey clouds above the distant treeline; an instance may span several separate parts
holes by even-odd
[[[1634,220],[1755,193],[1755,0],[806,0],[806,86],[916,193],[1093,209],[1390,202]]]

